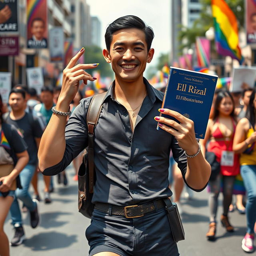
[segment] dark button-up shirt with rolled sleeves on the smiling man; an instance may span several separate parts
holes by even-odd
[[[94,132],[94,166],[96,184],[92,202],[117,206],[142,204],[172,195],[168,188],[170,150],[185,180],[187,160],[178,142],[168,132],[156,130],[155,116],[162,106],[164,94],[144,78],[147,96],[138,113],[134,132],[128,111],[114,99],[114,83],[110,86]],[[86,114],[91,98],[81,100],[66,126],[66,150],[59,164],[46,168],[54,175],[88,146]],[[196,190],[200,191],[200,190]]]

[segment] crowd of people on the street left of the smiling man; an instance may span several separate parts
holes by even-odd
[[[0,97],[0,255],[9,255],[9,242],[4,233],[4,221],[10,210],[14,235],[10,239],[11,246],[22,244],[26,238],[22,213],[29,212],[30,225],[36,228],[40,224],[38,203],[52,203],[50,193],[54,192],[51,176],[43,176],[44,196],[38,188],[38,157],[37,151],[41,136],[52,116],[52,107],[56,105],[61,87],[54,89],[43,87],[40,95],[34,88],[17,85],[12,88],[8,104],[2,103]],[[100,92],[106,91],[101,88]],[[92,92],[90,92],[90,95]],[[70,109],[79,104],[88,94],[78,90]],[[82,153],[74,161],[74,180],[77,179],[78,168],[82,163]],[[65,171],[58,174],[57,182],[68,184]],[[29,192],[30,184],[34,194]],[[23,206],[20,209],[18,201]]]

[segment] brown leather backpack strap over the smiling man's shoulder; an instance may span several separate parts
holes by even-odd
[[[98,123],[102,103],[106,92],[94,95],[87,112],[86,123],[88,126],[88,162],[89,162],[89,192],[93,193],[94,186],[94,153],[93,153],[93,136],[94,128]]]

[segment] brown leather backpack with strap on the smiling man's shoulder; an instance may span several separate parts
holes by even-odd
[[[88,147],[83,154],[83,162],[78,170],[78,211],[87,218],[92,218],[94,204],[92,204],[93,187],[96,181],[94,175],[94,128],[98,123],[102,103],[106,92],[94,95],[87,112]]]

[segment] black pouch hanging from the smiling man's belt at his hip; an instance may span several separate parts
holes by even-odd
[[[166,204],[167,216],[172,230],[174,241],[177,243],[185,239],[185,232],[180,219],[177,204],[172,203],[169,198],[164,199]]]

